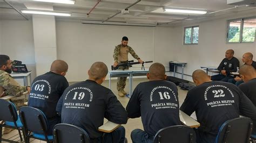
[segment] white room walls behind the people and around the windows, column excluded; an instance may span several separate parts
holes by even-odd
[[[255,16],[255,12],[233,13],[205,22],[179,23],[175,27],[90,25],[57,20],[57,58],[69,64],[69,72],[66,75],[68,81],[83,81],[87,78],[87,70],[93,62],[103,61],[110,69],[113,64],[114,46],[120,44],[122,37],[126,35],[129,45],[142,60],[161,62],[166,66],[166,70],[169,70],[169,61],[187,62],[184,73],[191,75],[200,66],[218,66],[225,56],[225,51],[230,48],[234,49],[234,56],[240,61],[245,52],[252,52],[256,57],[256,42],[226,43],[227,20]],[[199,44],[183,45],[184,27],[193,25],[199,25]],[[0,42],[1,54],[31,64],[34,68],[32,70],[35,70],[31,20],[0,21]],[[133,58],[130,56],[129,59]],[[256,61],[256,58],[254,60]],[[181,71],[180,68],[178,71]],[[181,76],[178,74],[178,77]],[[185,79],[192,81],[191,76],[185,76]]]

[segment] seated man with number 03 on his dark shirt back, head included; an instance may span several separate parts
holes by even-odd
[[[50,71],[37,76],[31,84],[28,106],[44,112],[49,123],[48,135],[52,134],[53,126],[60,123],[56,105],[64,90],[69,87],[69,83],[64,77],[67,71],[68,64],[65,61],[55,60],[51,64]]]

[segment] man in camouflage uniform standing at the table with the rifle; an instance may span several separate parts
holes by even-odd
[[[139,58],[139,56],[127,44],[128,44],[128,38],[123,37],[122,43],[120,45],[117,45],[116,48],[114,48],[113,67],[116,67],[118,65],[118,63],[127,62],[128,61],[128,53],[130,53],[133,56],[133,58],[137,59],[140,63],[143,63],[143,61]],[[128,69],[128,67],[127,68],[119,67],[119,69]],[[126,78],[127,77],[118,77],[118,79],[117,79],[117,90],[118,90],[118,95],[120,97],[124,97],[126,95],[126,92],[124,91]]]

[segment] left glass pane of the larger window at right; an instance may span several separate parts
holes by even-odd
[[[228,27],[228,42],[239,42],[241,20],[230,22]]]

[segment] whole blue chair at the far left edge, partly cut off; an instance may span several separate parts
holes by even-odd
[[[21,131],[23,131],[23,125],[21,123],[21,120],[19,119],[15,104],[12,102],[6,101],[4,99],[0,99],[0,109],[1,109],[0,120],[2,120],[2,122],[0,123],[0,131],[1,131],[0,142],[2,140],[10,141],[7,139],[2,139],[3,127],[17,129],[19,133],[19,138],[21,138],[21,141],[23,141],[22,135],[21,135]]]

